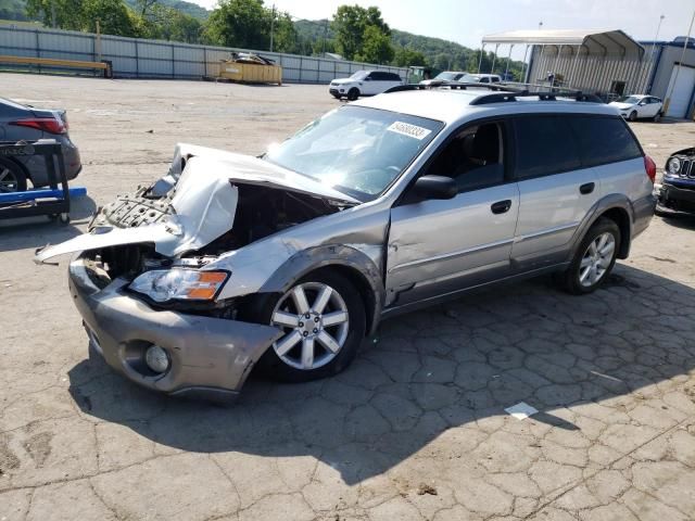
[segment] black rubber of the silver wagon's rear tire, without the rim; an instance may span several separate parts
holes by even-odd
[[[582,259],[584,259],[585,255],[589,254],[590,245],[605,233],[610,234],[614,240],[614,247],[609,257],[607,268],[605,268],[603,274],[594,283],[590,283],[589,285],[583,284],[581,282],[582,269],[584,269],[581,267]],[[559,281],[564,289],[568,293],[571,293],[573,295],[584,295],[586,293],[596,291],[601,287],[601,284],[603,284],[608,279],[610,272],[612,271],[612,267],[616,264],[618,250],[620,249],[620,228],[618,228],[618,225],[616,225],[614,220],[606,217],[601,217],[596,223],[594,223],[594,225],[589,229],[579,247],[577,249],[577,253],[574,254],[569,268],[567,268],[567,270],[563,274],[559,274]]]

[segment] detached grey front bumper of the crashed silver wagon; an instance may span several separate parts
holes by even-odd
[[[80,258],[70,265],[70,291],[90,344],[117,372],[154,391],[216,401],[235,398],[265,350],[282,332],[270,326],[155,310],[116,279],[99,289]],[[151,345],[166,350],[164,373],[144,364]]]

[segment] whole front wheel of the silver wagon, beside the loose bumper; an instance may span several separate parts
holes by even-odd
[[[341,372],[355,357],[366,328],[359,292],[344,277],[324,270],[268,298],[258,321],[285,331],[260,361],[266,374],[283,382]]]

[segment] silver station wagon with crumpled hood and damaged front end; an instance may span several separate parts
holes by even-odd
[[[389,315],[557,272],[594,291],[649,224],[656,167],[615,109],[404,90],[319,117],[261,157],[180,144],[100,208],[70,290],[92,348],[169,394],[233,397],[251,369],[334,374]]]

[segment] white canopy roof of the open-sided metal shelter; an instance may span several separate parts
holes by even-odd
[[[644,48],[620,29],[510,30],[482,38],[483,45],[581,46],[589,54],[641,56]]]

